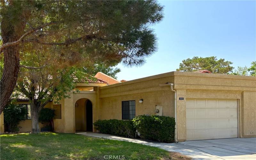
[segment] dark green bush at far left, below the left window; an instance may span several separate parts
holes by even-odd
[[[21,120],[25,120],[27,114],[27,108],[24,106],[6,105],[4,108],[4,124],[7,126],[8,132],[18,132],[20,130],[18,124]]]

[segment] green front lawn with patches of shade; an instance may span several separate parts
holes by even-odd
[[[0,136],[1,160],[8,159],[189,159],[146,145],[68,133],[21,133]],[[108,156],[106,156],[108,157]],[[105,157],[105,158],[106,158]]]

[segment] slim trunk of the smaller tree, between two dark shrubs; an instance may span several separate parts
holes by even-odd
[[[31,107],[31,119],[32,119],[31,133],[40,133],[39,122],[38,122],[40,110],[38,110],[39,108],[37,108],[36,105],[33,103],[30,103],[30,107]]]

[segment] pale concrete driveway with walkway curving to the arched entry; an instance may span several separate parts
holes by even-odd
[[[170,152],[179,152],[198,160],[256,160],[256,138],[229,138],[160,143],[93,132],[81,132],[77,134],[158,147]]]

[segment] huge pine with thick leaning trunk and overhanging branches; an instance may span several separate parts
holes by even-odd
[[[1,1],[1,113],[15,87],[20,55],[34,50],[88,56],[92,64],[139,65],[156,51],[150,24],[163,18],[156,1]],[[42,64],[44,66],[44,64]],[[41,67],[41,66],[37,66]]]

